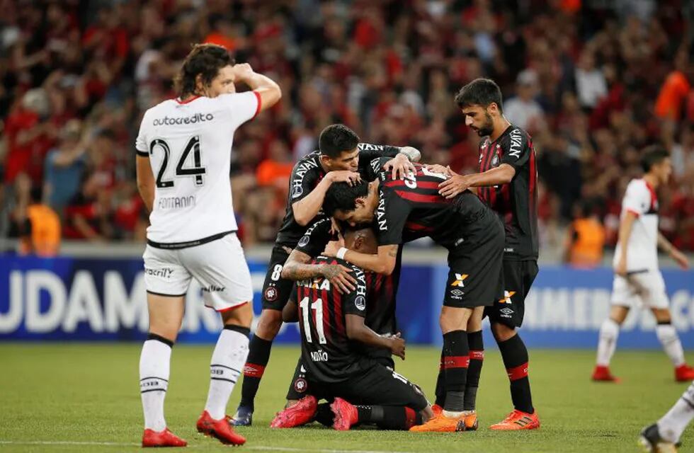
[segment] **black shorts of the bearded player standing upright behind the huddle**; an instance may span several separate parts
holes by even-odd
[[[493,323],[516,328],[523,324],[525,296],[537,276],[537,260],[504,260],[504,297],[484,309]]]

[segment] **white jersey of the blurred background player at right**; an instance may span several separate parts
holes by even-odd
[[[655,190],[643,179],[632,179],[622,200],[623,218],[633,212],[637,219],[627,243],[627,272],[637,273],[658,268],[658,199]],[[615,251],[615,265],[621,253]]]

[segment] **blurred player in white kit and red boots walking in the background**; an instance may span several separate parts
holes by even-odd
[[[669,253],[681,268],[687,257],[658,231],[656,189],[668,182],[672,164],[667,151],[659,147],[644,150],[644,176],[631,180],[622,200],[619,240],[615,250],[615,279],[610,316],[600,328],[597,364],[593,380],[617,382],[610,373],[610,359],[617,347],[619,329],[632,307],[649,308],[656,318],[656,336],[675,366],[677,381],[694,379],[694,369],[686,365],[682,344],[672,326],[669,299],[658,268],[658,248]]]

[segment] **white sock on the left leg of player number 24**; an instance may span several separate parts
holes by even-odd
[[[164,398],[169,386],[169,364],[173,343],[160,336],[149,334],[140,354],[140,394],[144,411],[144,428],[162,431]]]

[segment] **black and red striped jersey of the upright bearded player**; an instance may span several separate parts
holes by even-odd
[[[516,169],[508,184],[478,188],[479,197],[494,210],[506,230],[504,258],[537,259],[537,166],[528,132],[510,125],[494,142],[489,137],[479,145],[479,172],[501,164]]]

